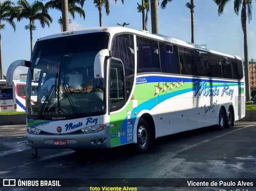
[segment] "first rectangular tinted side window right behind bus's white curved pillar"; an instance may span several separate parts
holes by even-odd
[[[161,72],[158,41],[143,37],[137,39],[138,73]]]

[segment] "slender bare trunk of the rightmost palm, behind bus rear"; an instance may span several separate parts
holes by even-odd
[[[244,0],[243,7],[244,9],[243,14],[244,14],[244,73],[245,73],[245,96],[246,96],[246,101],[250,101],[251,99],[251,92],[250,92],[250,76],[249,76],[249,62],[248,62],[248,44],[247,44],[247,27],[246,27],[246,2]]]

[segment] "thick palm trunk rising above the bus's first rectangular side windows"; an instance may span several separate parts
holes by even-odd
[[[150,0],[152,34],[158,34],[158,0]]]

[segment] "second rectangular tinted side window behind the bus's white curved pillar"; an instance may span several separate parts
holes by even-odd
[[[159,42],[159,50],[162,72],[180,74],[178,46]]]

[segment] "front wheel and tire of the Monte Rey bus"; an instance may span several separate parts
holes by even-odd
[[[150,128],[144,118],[140,118],[137,128],[136,150],[138,153],[146,153],[150,146]]]

